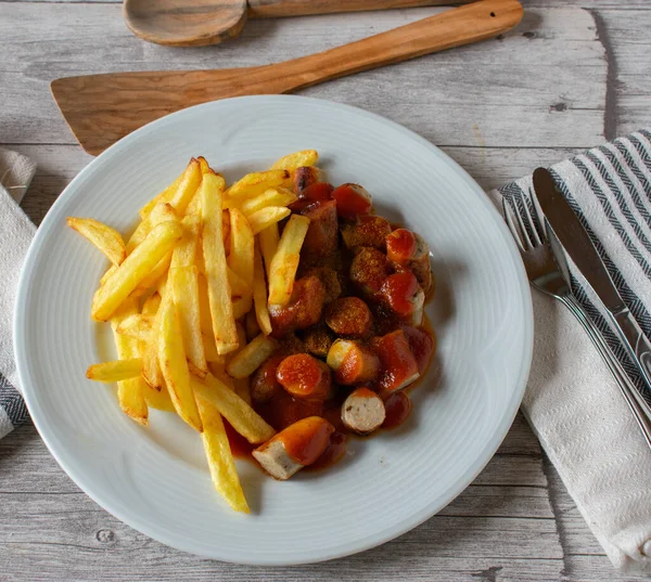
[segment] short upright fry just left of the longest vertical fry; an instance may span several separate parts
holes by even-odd
[[[175,256],[178,247],[175,249]],[[201,335],[199,272],[194,266],[170,269],[169,280],[174,302],[180,319],[186,354],[192,365],[200,372],[199,375],[205,375],[208,366]]]

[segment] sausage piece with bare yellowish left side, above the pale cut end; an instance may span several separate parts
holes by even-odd
[[[344,386],[367,384],[380,373],[380,359],[375,352],[350,339],[337,339],[330,347],[327,361],[334,381]]]

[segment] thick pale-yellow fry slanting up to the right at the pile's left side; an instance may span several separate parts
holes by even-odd
[[[183,232],[178,222],[162,222],[118,267],[95,293],[92,318],[106,321],[179,241]]]

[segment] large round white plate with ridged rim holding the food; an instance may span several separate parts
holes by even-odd
[[[332,182],[359,182],[379,214],[430,243],[437,293],[434,371],[400,429],[353,440],[328,471],[288,482],[238,462],[252,515],[213,490],[200,439],[152,411],[143,428],[114,388],[85,378],[114,357],[90,302],[106,261],[65,225],[92,217],[128,231],[140,206],[191,156],[233,180],[314,147]],[[363,111],[297,96],[252,96],[184,109],[125,138],[59,197],[29,249],[14,340],[22,387],[46,444],[97,503],[141,532],[220,560],[288,565],[386,542],[454,500],[509,429],[528,374],[533,320],[516,248],[481,187],[419,135]],[[435,366],[432,366],[435,367]]]

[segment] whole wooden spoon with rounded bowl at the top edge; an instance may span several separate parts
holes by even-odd
[[[444,3],[449,0],[125,0],[123,13],[127,26],[144,40],[200,47],[237,37],[247,16],[299,16]]]

